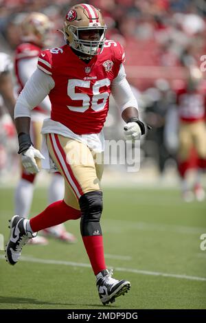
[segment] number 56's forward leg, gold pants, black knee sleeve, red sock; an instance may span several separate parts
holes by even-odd
[[[76,203],[75,207],[81,209],[82,239],[93,271],[97,274],[106,269],[106,265],[100,228],[102,191],[93,156],[85,144],[54,134],[49,135],[48,147],[52,159],[65,177],[65,202],[70,206]],[[71,201],[71,193],[76,201]],[[86,208],[89,210],[82,210]],[[93,236],[93,232],[96,235]]]

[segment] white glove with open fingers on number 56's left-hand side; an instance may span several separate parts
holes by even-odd
[[[33,146],[30,146],[27,151],[21,154],[23,167],[27,172],[30,172],[30,174],[36,174],[36,172],[39,172],[35,158],[45,159],[45,157],[41,155],[40,151],[35,149]]]

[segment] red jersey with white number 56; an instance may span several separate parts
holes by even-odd
[[[111,83],[124,63],[124,49],[106,41],[100,55],[86,63],[69,45],[47,49],[38,58],[38,68],[52,76],[49,93],[51,119],[78,135],[100,133],[108,113]]]

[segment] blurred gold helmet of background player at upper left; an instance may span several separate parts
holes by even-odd
[[[22,41],[32,41],[41,47],[47,46],[52,26],[49,18],[41,12],[27,14],[21,23]]]

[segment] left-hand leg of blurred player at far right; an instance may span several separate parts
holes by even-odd
[[[190,202],[194,199],[193,192],[187,181],[187,170],[190,165],[190,153],[192,151],[193,140],[190,124],[180,124],[179,129],[179,151],[178,169],[181,177],[181,192],[184,201]]]

